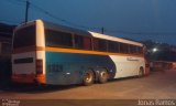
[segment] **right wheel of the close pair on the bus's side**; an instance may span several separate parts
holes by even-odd
[[[98,81],[99,81],[100,84],[103,84],[103,83],[108,82],[108,72],[106,70],[103,70],[99,73]]]

